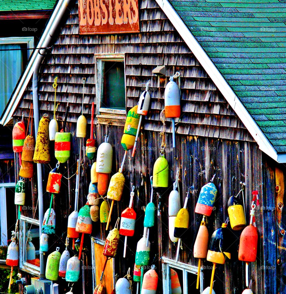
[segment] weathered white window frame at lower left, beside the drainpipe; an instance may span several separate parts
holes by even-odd
[[[25,256],[25,249],[26,249],[26,226],[25,224],[32,224],[32,225],[37,225],[40,227],[40,222],[39,220],[34,220],[30,217],[25,217],[24,215],[20,216],[20,230],[19,230],[19,257],[20,257],[20,262],[19,262],[19,268],[27,273],[30,273],[34,276],[40,276],[40,267],[37,267],[35,265],[31,265],[30,263],[24,261],[24,256]]]

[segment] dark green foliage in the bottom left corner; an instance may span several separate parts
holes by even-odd
[[[0,259],[6,259],[6,256],[7,256],[7,247],[1,246]],[[13,284],[11,285],[11,290],[8,290],[10,270],[0,268],[0,292],[11,293],[11,294],[19,293],[19,286],[18,284],[15,283],[15,281],[18,280],[17,273],[18,273],[18,269],[15,268],[13,271],[13,276],[12,276]]]

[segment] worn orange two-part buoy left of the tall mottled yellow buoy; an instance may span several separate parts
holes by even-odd
[[[24,141],[22,151],[22,164],[19,171],[19,176],[23,178],[32,178],[34,176],[33,155],[35,150],[35,139],[28,135]]]

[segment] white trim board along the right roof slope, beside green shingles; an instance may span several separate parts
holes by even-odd
[[[169,3],[169,1],[156,0],[156,2],[159,4],[159,6],[167,15],[175,29],[179,32],[183,40],[189,46],[192,53],[194,53],[195,57],[198,59],[202,67],[209,74],[212,81],[215,83],[217,88],[223,94],[223,97],[226,99],[226,101],[233,108],[240,120],[243,122],[251,136],[253,136],[254,140],[259,145],[259,149],[279,163],[286,163],[286,154],[277,154],[272,144],[269,142],[257,123],[254,121],[252,116],[248,113],[244,105],[241,103],[239,98],[236,96],[234,91],[231,89],[229,84],[216,68],[215,64],[200,46],[198,41],[192,35],[189,28],[185,25],[184,21],[182,21],[182,19]]]

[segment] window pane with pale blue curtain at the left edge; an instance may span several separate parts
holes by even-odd
[[[19,44],[0,45],[0,49],[21,49]],[[23,71],[22,50],[0,51],[0,115]]]

